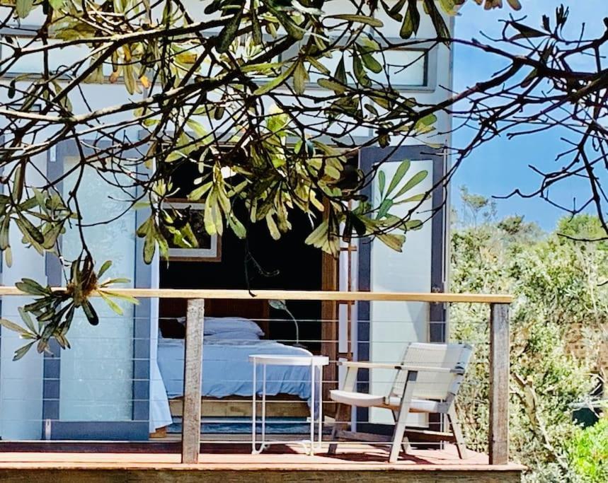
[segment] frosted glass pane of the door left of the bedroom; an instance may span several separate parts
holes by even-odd
[[[64,169],[71,170],[78,158],[64,158]],[[64,196],[72,189],[79,170],[64,181]],[[120,182],[120,179],[118,180]],[[84,236],[91,245],[96,263],[112,260],[106,276],[134,280],[135,213],[133,210],[111,223],[104,223],[125,210],[128,193],[111,187],[96,170],[86,168],[79,190],[79,206],[86,223]],[[99,223],[99,224],[95,224]],[[62,237],[67,260],[79,256],[80,234],[75,226]],[[69,340],[72,348],[62,352],[59,418],[62,421],[129,421],[132,417],[133,324],[134,307],[117,302],[118,315],[107,303],[93,301],[100,322],[93,327],[84,315],[74,318]]]

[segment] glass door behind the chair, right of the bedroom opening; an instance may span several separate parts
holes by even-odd
[[[443,277],[444,218],[442,216],[442,188],[433,187],[442,176],[443,156],[426,146],[401,146],[399,148],[367,148],[360,154],[360,168],[371,172],[375,165],[384,172],[383,187],[376,176],[363,194],[373,206],[382,202],[383,192],[390,186],[403,161],[411,164],[400,182],[392,188],[396,193],[416,175],[425,171],[423,180],[394,200],[391,214],[404,217],[415,209],[411,219],[423,221],[423,226],[406,233],[402,251],[392,250],[381,240],[363,240],[359,247],[359,287],[373,292],[420,292],[428,293],[441,285]],[[432,196],[418,205],[418,201],[403,199],[416,194],[432,192]],[[430,219],[433,210],[439,212]],[[395,233],[403,233],[398,230]],[[422,302],[372,301],[359,303],[358,354],[360,360],[396,362],[403,355],[408,342],[429,342],[436,337],[432,332],[433,316],[430,305]],[[369,392],[388,394],[393,383],[394,371],[374,369],[360,377],[362,387],[369,384]],[[357,420],[372,424],[393,424],[391,414],[384,409],[372,408],[357,411]],[[426,417],[411,415],[410,424],[425,426]]]

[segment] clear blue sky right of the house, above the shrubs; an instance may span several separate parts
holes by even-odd
[[[608,16],[608,0],[521,0],[522,11],[513,12],[510,8],[484,11],[471,0],[461,9],[461,16],[456,21],[456,35],[459,38],[471,39],[476,37],[483,40],[480,30],[486,34],[498,35],[503,28],[500,18],[508,18],[510,13],[517,18],[527,15],[529,25],[540,25],[543,13],[548,13],[553,21],[556,6],[563,3],[570,6],[568,24],[570,32],[580,31],[581,23],[586,23],[586,32],[589,34],[601,33],[604,30],[602,18]],[[503,2],[506,4],[506,2]],[[490,78],[500,68],[496,59],[474,52],[466,47],[456,47],[454,51],[454,87],[461,91],[476,81]],[[457,132],[454,136],[454,145],[463,146],[469,139],[470,133]],[[495,139],[482,146],[461,165],[454,188],[461,185],[469,187],[470,192],[484,196],[500,196],[511,192],[516,187],[522,190],[534,190],[541,178],[530,170],[529,165],[535,165],[546,170],[553,170],[560,164],[555,161],[556,154],[563,150],[565,145],[559,140],[560,134],[549,132],[547,134],[522,136],[517,140]],[[566,181],[553,190],[553,196],[561,202],[572,203],[576,198],[582,202],[586,198],[587,185]],[[452,204],[458,204],[458,190],[454,189]],[[527,221],[536,221],[539,225],[550,230],[555,226],[556,220],[563,216],[563,211],[556,209],[540,199],[497,199],[499,216],[508,214],[521,214]]]

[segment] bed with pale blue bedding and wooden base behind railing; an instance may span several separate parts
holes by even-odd
[[[243,308],[243,305],[234,304],[205,306],[201,417],[251,417],[253,366],[248,361],[251,354],[311,355],[306,349],[263,338],[268,334],[268,315],[263,310],[266,310],[265,307],[252,310],[251,307]],[[252,318],[226,315],[235,312],[262,315],[263,318],[257,318],[257,322],[254,322]],[[183,406],[185,330],[183,316],[175,317],[179,313],[185,313],[185,306],[176,306],[175,299],[172,305],[161,307],[157,354],[171,416],[174,418],[181,416]],[[309,381],[308,367],[268,366],[268,417],[308,417]],[[260,378],[256,386],[257,392],[261,393]],[[159,431],[156,436],[162,436],[162,433]]]

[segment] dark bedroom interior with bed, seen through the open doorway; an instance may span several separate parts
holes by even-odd
[[[173,199],[185,200],[185,193],[193,189],[193,180],[200,174],[195,163],[180,163],[174,168],[174,186],[178,186]],[[235,206],[235,211],[243,207]],[[242,218],[241,218],[242,219]],[[159,264],[161,289],[282,289],[282,290],[337,290],[337,260],[304,243],[313,221],[304,214],[292,213],[292,230],[273,240],[264,223],[248,227],[248,239],[241,240],[226,230],[218,240],[220,255],[214,260],[197,260],[195,257],[173,259]],[[274,305],[274,308],[273,308]],[[278,304],[280,305],[280,304]],[[249,427],[239,426],[239,418],[251,418],[251,364],[248,355],[268,351],[280,354],[335,354],[337,351],[338,325],[337,304],[331,301],[289,301],[287,311],[277,308],[270,301],[213,300],[205,305],[205,349],[203,366],[207,366],[202,388],[203,427],[205,432],[243,432]],[[151,437],[163,437],[167,430],[178,432],[183,413],[183,337],[186,315],[185,299],[166,298],[159,301],[159,368],[169,397],[173,424],[157,429]],[[250,340],[251,332],[226,330],[207,333],[209,321],[236,324],[241,320],[254,321],[260,328]],[[330,319],[330,320],[328,320]],[[322,321],[330,323],[324,324]],[[211,322],[213,323],[213,322]],[[240,322],[239,322],[240,324]],[[299,332],[299,340],[296,334]],[[297,344],[299,342],[299,344]],[[265,344],[261,349],[260,344]],[[271,347],[269,344],[274,344]],[[298,347],[294,347],[297,345]],[[238,347],[238,349],[235,348]],[[335,359],[335,357],[333,358]],[[229,362],[230,360],[230,362]],[[227,373],[236,373],[239,380],[219,381],[217,372],[223,367]],[[333,367],[331,367],[333,366]],[[335,380],[336,369],[326,367],[324,380]],[[268,417],[275,418],[270,431],[283,431],[280,421],[285,418],[305,420],[309,416],[309,386],[298,385],[297,379],[308,380],[307,368],[273,368],[275,377],[282,383],[275,387],[276,394],[269,392]],[[231,372],[231,373],[232,373]],[[270,376],[269,376],[270,377]],[[181,385],[181,388],[180,388]],[[248,386],[248,387],[246,387]],[[328,388],[326,391],[329,390]],[[333,386],[331,386],[333,387]],[[325,398],[324,398],[325,399]],[[331,414],[331,408],[327,409]],[[205,421],[212,421],[205,423]],[[236,424],[228,424],[236,421]],[[290,424],[297,430],[297,425]]]

